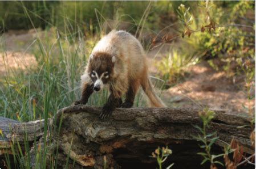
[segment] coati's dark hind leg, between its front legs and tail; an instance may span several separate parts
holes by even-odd
[[[128,88],[128,91],[126,93],[125,102],[120,105],[121,108],[130,108],[130,107],[132,107],[134,99],[135,99],[136,92],[139,89],[139,87],[140,87],[140,81],[138,79],[136,79],[135,81],[131,81],[129,83],[129,88]]]

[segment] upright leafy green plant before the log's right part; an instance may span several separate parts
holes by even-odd
[[[224,166],[220,161],[216,160],[216,158],[223,156],[224,154],[218,154],[213,155],[211,154],[212,145],[216,140],[218,140],[219,137],[217,137],[217,133],[207,133],[206,129],[209,128],[210,121],[213,119],[215,113],[214,111],[209,110],[208,108],[205,108],[203,111],[200,111],[199,116],[202,120],[202,128],[198,125],[195,125],[194,127],[197,128],[201,135],[198,134],[196,137],[197,140],[200,140],[202,142],[202,145],[200,145],[200,148],[204,149],[204,152],[197,153],[198,155],[202,155],[204,157],[204,160],[202,160],[201,165],[205,162],[210,162],[210,168],[217,168],[216,164],[221,164],[221,166]]]

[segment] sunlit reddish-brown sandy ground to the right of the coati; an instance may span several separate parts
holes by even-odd
[[[222,109],[227,113],[245,114],[246,107],[254,104],[244,92],[244,77],[227,78],[224,71],[215,71],[207,62],[190,66],[190,75],[184,82],[164,91],[163,98],[169,105]],[[254,94],[254,91],[251,91]]]

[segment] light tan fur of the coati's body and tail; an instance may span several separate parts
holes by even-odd
[[[147,94],[153,107],[165,107],[161,99],[155,94],[148,77],[148,66],[143,47],[139,41],[130,33],[125,31],[111,31],[104,36],[92,50],[94,56],[105,53],[105,57],[115,56],[115,66],[111,80],[108,83],[109,90],[113,96],[121,98],[129,91],[136,94],[140,85]],[[82,86],[84,83],[92,83],[90,79],[90,62],[82,76]],[[133,102],[133,100],[132,100]]]

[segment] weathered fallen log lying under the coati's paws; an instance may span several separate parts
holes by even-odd
[[[66,165],[68,168],[103,168],[104,165],[107,168],[156,168],[156,159],[149,155],[157,146],[168,145],[173,154],[166,163],[174,162],[177,168],[198,168],[202,158],[197,153],[203,151],[194,137],[198,135],[198,130],[193,125],[201,126],[202,123],[198,111],[183,108],[117,108],[109,119],[100,120],[99,107],[77,105],[59,109],[53,119],[48,119],[48,165],[51,164],[52,154],[56,154],[58,149],[60,168]],[[2,121],[6,119],[0,119],[5,144],[10,140],[22,143],[25,133],[27,141],[32,143],[36,139],[36,145],[31,144],[30,152],[31,166],[35,167],[33,153],[35,147],[43,147],[44,121],[22,124],[17,121],[3,124]],[[11,130],[7,126],[11,126]],[[246,117],[216,111],[208,132],[214,131],[220,138],[213,145],[213,154],[223,153],[222,147],[232,138],[243,146],[247,154],[254,153],[250,142],[250,120]],[[3,148],[3,143],[0,145],[5,152],[10,147],[6,144]]]

